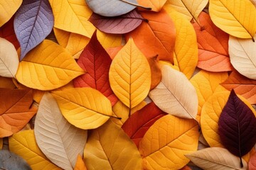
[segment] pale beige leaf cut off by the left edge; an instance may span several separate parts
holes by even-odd
[[[18,54],[14,45],[0,38],[0,76],[15,77],[18,70]]]

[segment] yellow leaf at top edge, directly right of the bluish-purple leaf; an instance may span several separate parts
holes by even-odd
[[[87,38],[92,36],[95,26],[87,21],[92,11],[85,0],[49,0],[53,9],[54,27],[71,33],[78,33]]]

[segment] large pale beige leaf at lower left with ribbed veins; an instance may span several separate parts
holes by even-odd
[[[68,123],[51,94],[43,95],[34,132],[38,147],[51,162],[62,169],[75,167],[77,155],[82,154],[85,147],[87,131]]]

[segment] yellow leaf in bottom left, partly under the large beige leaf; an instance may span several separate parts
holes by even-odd
[[[60,169],[41,152],[36,144],[33,130],[18,132],[9,137],[9,148],[11,152],[25,159],[32,169]]]

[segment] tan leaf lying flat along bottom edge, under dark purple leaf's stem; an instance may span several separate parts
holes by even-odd
[[[221,147],[208,147],[192,154],[187,154],[186,157],[206,170],[232,170],[232,169],[247,169],[247,163],[242,159],[244,164],[243,168],[240,168],[240,159],[235,155],[228,152],[227,149]]]

